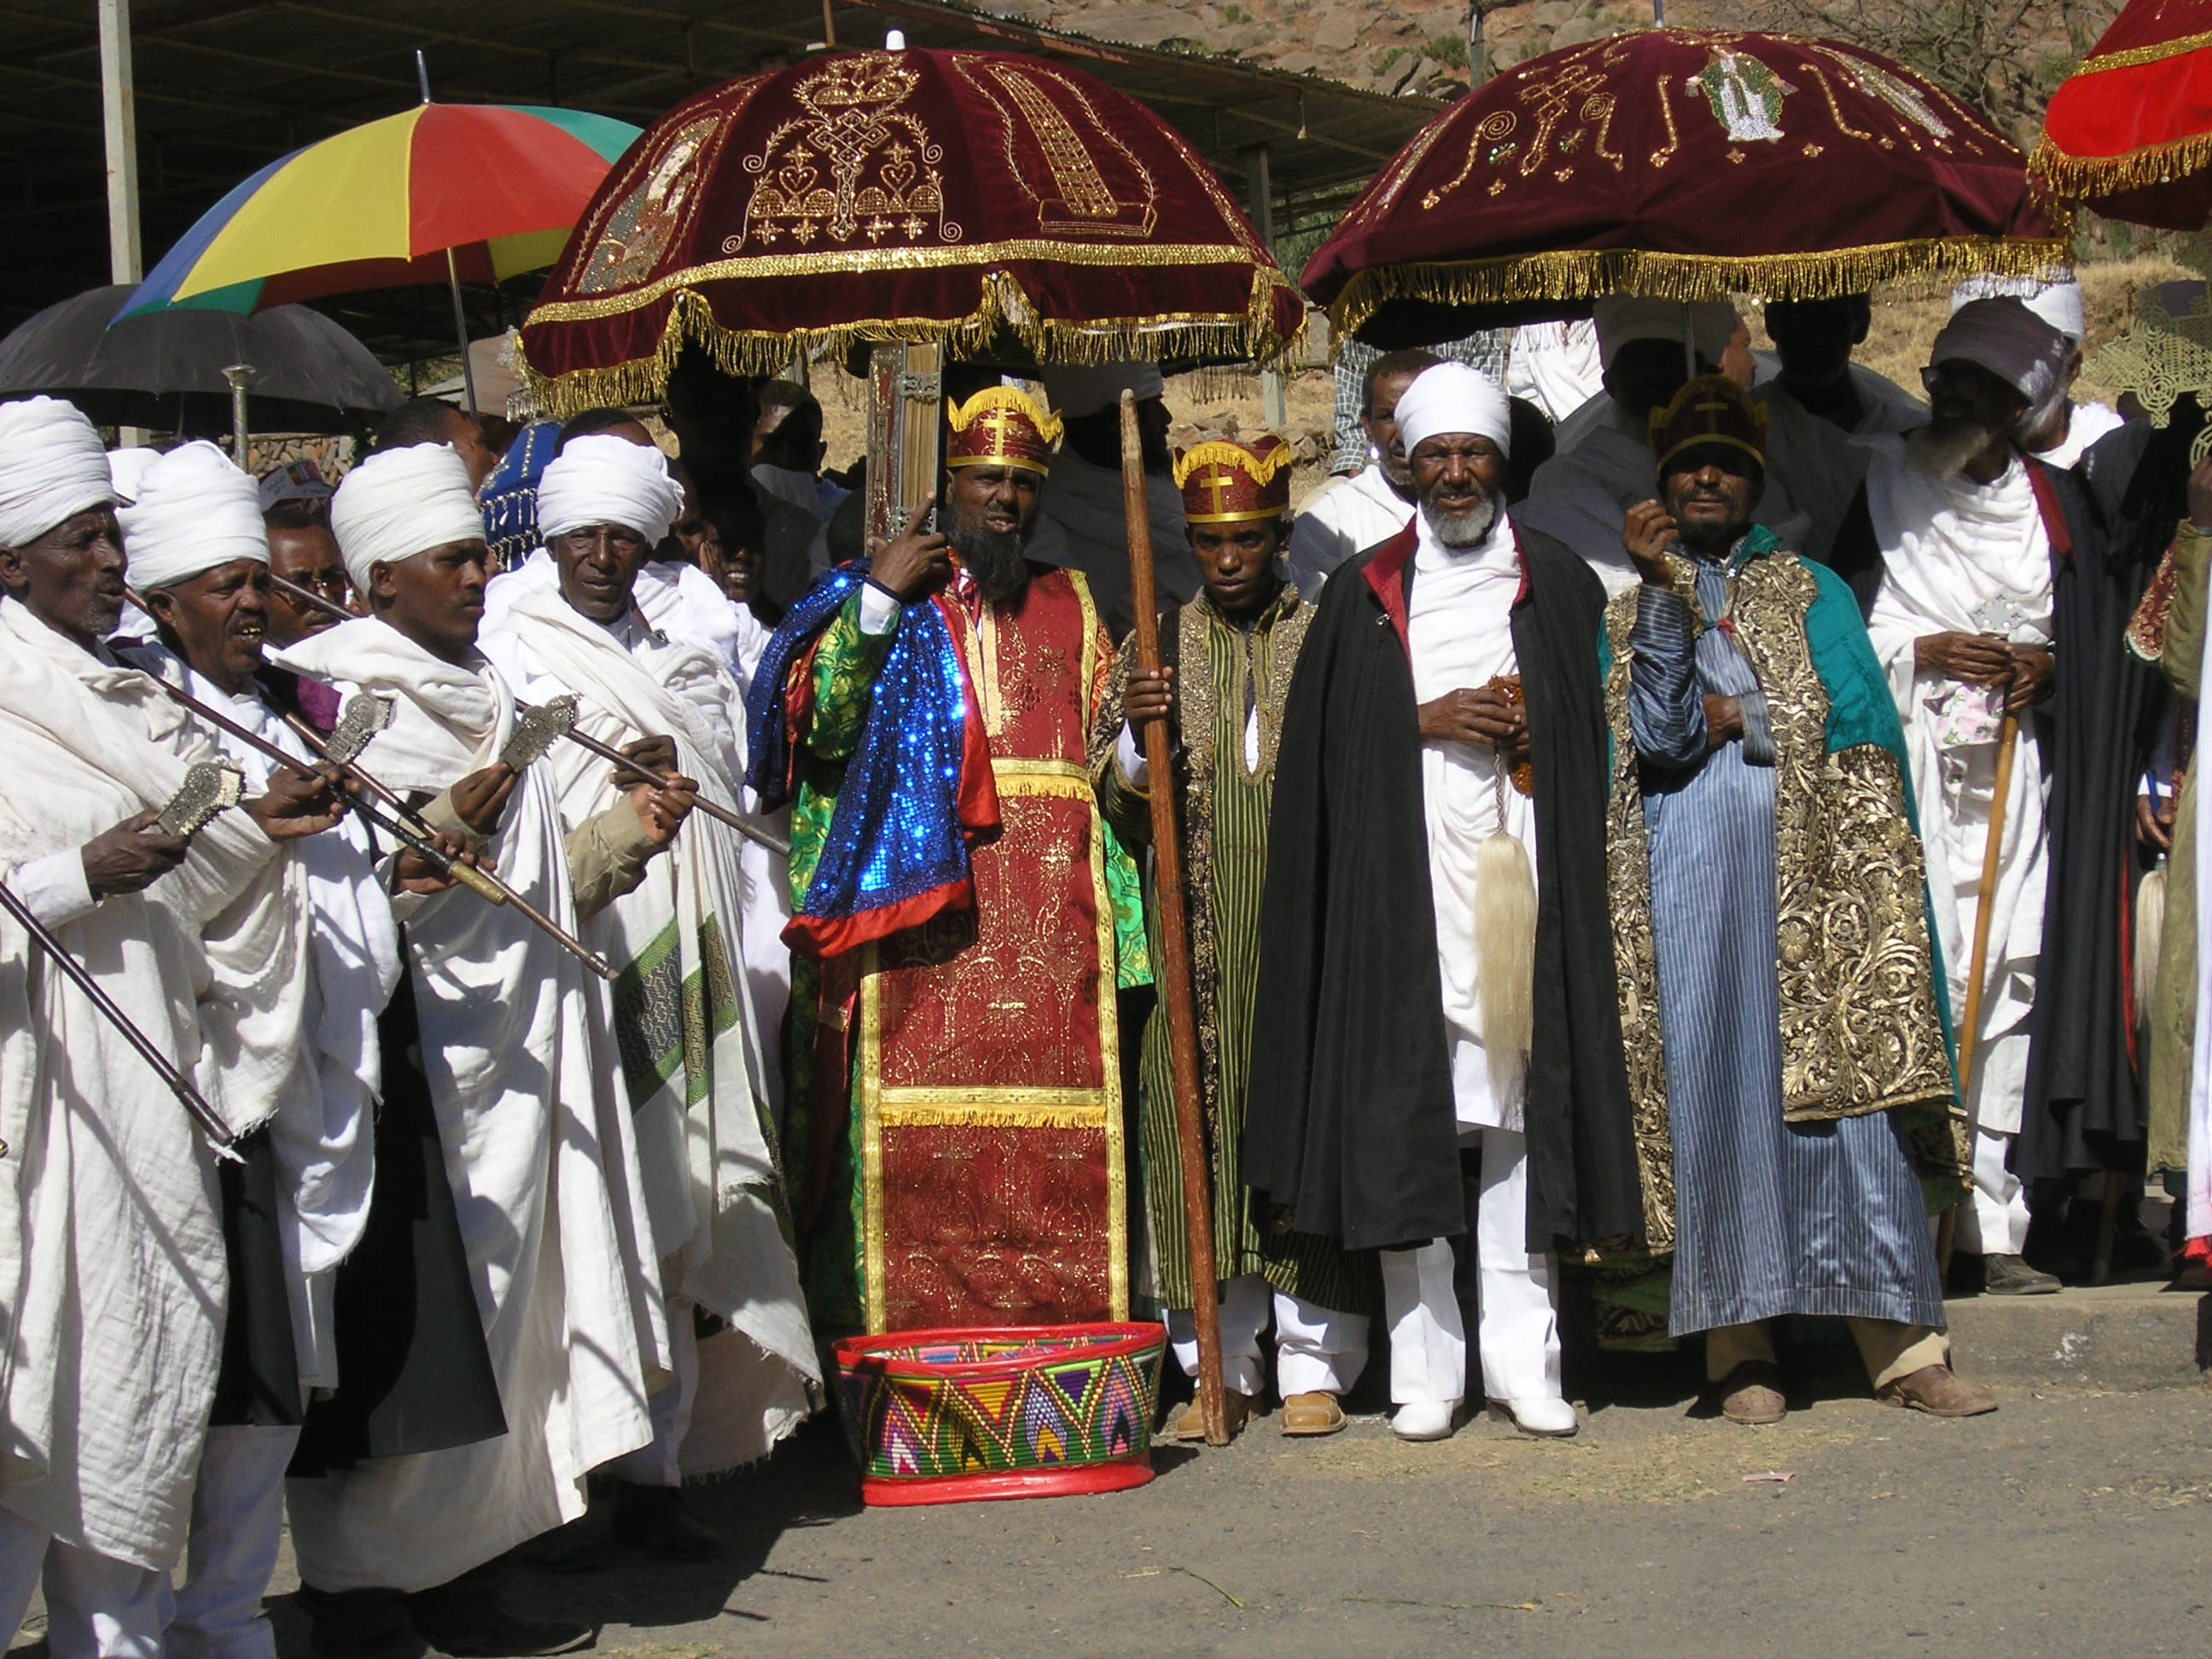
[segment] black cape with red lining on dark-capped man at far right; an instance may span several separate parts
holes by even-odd
[[[2146,867],[2135,841],[2135,779],[2161,692],[2157,670],[2128,653],[2121,633],[2150,568],[2115,557],[2079,473],[2035,458],[2026,465],[2053,529],[2057,624],[2057,679],[2037,710],[2051,779],[2044,807],[2051,874],[2013,1148],[2013,1172],[2033,1181],[2141,1168],[2143,1091],[2128,1029],[2132,894]],[[1882,553],[1865,489],[1836,535],[1832,562],[1869,613]]]

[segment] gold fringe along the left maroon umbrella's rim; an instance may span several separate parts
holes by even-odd
[[[792,358],[845,356],[854,345],[887,341],[942,341],[953,358],[973,358],[991,341],[1011,336],[1037,363],[1157,363],[1164,358],[1203,358],[1217,363],[1281,363],[1305,338],[1305,325],[1290,338],[1274,327],[1274,292],[1285,285],[1279,274],[1252,272],[1252,294],[1243,316],[1221,312],[1166,312],[1155,316],[1106,316],[1084,323],[1037,316],[1022,283],[1004,270],[982,272],[978,305],[967,316],[949,321],[922,319],[856,319],[836,327],[768,334],[726,330],[714,321],[708,301],[679,288],[670,294],[668,323],[650,356],[611,363],[595,369],[546,376],[529,363],[526,330],[515,341],[515,369],[535,405],[555,420],[584,409],[611,405],[657,403],[668,389],[668,374],[686,345],[699,345],[723,374],[781,374]],[[573,312],[573,305],[549,307]],[[549,319],[560,321],[560,316]]]

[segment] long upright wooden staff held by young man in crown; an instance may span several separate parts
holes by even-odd
[[[1159,597],[1152,588],[1152,515],[1144,491],[1144,451],[1133,392],[1121,394],[1121,513],[1128,520],[1128,586],[1137,606],[1137,672],[1157,675]],[[1199,1327],[1199,1420],[1206,1425],[1206,1444],[1225,1447],[1230,1427],[1228,1400],[1221,1394],[1221,1298],[1214,1287],[1214,1217],[1199,1115],[1199,1022],[1190,995],[1183,843],[1175,823],[1168,743],[1168,721],[1144,723],[1144,763],[1152,781],[1152,885],[1159,894],[1159,991],[1168,1009],[1168,1055],[1175,1073],[1175,1144],[1183,1166],[1190,1316]]]

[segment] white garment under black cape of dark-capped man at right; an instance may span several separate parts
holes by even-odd
[[[2026,467],[2015,460],[1995,484],[1960,476],[1936,480],[1905,458],[1896,438],[1867,440],[1867,509],[1882,549],[1882,584],[1867,633],[1889,672],[1905,723],[1927,847],[1929,900],[1951,1011],[1966,1009],[1975,902],[1995,792],[1995,723],[1975,719],[1986,695],[1918,672],[1913,641],[1929,633],[1984,633],[2006,611],[2015,644],[2048,646],[2053,630],[2051,538]],[[2035,719],[2022,721],[2013,783],[2004,805],[1997,889],[1991,898],[1989,967],[1973,1095],[1975,1124],[1997,1135],[2020,1130],[2026,1086],[2026,1022],[2044,940],[2044,885],[2051,847],[2048,799]]]

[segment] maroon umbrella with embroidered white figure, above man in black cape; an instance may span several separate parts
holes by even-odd
[[[1860,46],[1652,29],[1533,58],[1429,122],[1305,265],[1376,343],[1601,294],[1860,294],[2066,259],[2020,150]]]

